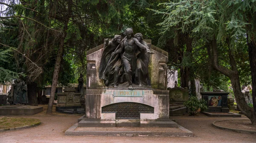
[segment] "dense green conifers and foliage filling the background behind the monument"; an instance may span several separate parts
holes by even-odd
[[[38,104],[38,89],[51,84],[48,113],[56,85],[76,82],[80,72],[86,74],[86,51],[131,27],[168,51],[168,67],[179,71],[181,87],[189,87],[195,95],[195,79],[207,91],[216,87],[227,91],[232,84],[242,112],[256,123],[255,0],[2,0],[0,4],[0,80],[23,78],[32,105]],[[241,93],[243,84],[252,85],[253,108]]]

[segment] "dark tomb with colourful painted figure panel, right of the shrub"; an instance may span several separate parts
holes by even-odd
[[[223,90],[213,90],[213,92],[201,92],[203,99],[207,101],[207,112],[229,112],[227,95]]]

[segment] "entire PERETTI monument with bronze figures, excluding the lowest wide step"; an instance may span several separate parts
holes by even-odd
[[[131,28],[125,35],[87,51],[86,109],[78,127],[177,127],[169,120],[168,53]]]

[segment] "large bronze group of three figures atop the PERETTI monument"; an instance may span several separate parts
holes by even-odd
[[[99,79],[103,79],[105,86],[117,88],[119,83],[128,82],[128,89],[133,90],[132,84],[150,85],[148,76],[149,54],[148,45],[143,41],[141,33],[133,34],[127,28],[122,36],[115,35],[109,41],[105,40],[105,49],[99,67]]]

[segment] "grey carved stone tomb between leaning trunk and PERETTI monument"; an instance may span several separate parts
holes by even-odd
[[[61,112],[62,109],[81,108],[81,93],[76,93],[75,87],[64,87],[63,93],[57,93],[58,102],[56,111]]]

